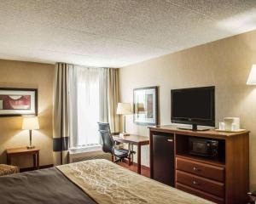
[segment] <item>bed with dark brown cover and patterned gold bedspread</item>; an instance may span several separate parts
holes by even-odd
[[[107,160],[0,177],[0,203],[212,203]]]

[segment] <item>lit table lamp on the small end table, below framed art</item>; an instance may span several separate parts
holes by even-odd
[[[32,145],[32,130],[39,129],[38,117],[24,117],[22,122],[22,129],[29,130],[29,146],[27,149],[33,149],[35,146]]]

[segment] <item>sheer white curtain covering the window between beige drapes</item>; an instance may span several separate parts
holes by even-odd
[[[75,65],[70,76],[71,147],[100,144],[97,122],[108,122],[108,71]]]

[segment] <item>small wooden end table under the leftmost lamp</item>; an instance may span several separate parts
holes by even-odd
[[[24,156],[32,155],[33,156],[33,168],[34,170],[39,169],[39,149],[27,149],[26,147],[14,148],[6,150],[7,154],[7,164],[11,165],[11,159],[14,156]]]

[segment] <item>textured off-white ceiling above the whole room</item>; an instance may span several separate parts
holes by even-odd
[[[0,58],[122,67],[256,29],[256,0],[0,0]]]

